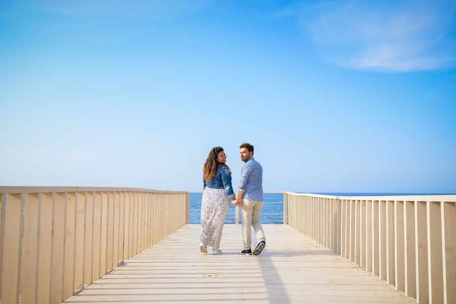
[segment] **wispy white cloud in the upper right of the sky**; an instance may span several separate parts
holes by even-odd
[[[456,64],[455,12],[445,1],[337,1],[302,7],[299,21],[329,62],[414,71]]]

